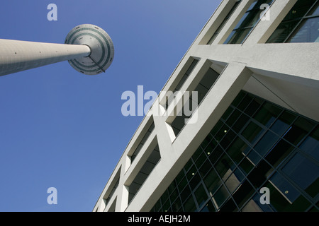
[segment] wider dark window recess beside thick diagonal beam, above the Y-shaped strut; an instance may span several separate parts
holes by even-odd
[[[195,106],[193,106],[193,103],[195,102],[196,105],[199,105],[201,103],[201,101],[206,96],[208,91],[211,89],[213,84],[217,81],[219,76],[220,76],[220,74],[217,73],[216,71],[214,71],[213,69],[211,69],[211,68],[208,69],[208,71],[205,73],[205,75],[203,76],[201,81],[198,83],[198,85],[194,89],[194,91],[197,92],[197,97],[198,97],[197,100],[194,100],[194,98],[192,98],[192,95],[190,95],[190,97],[189,97],[189,101],[188,101],[189,109],[188,110],[190,112],[194,112],[194,110],[195,110]],[[181,129],[184,127],[185,119],[189,119],[191,117],[191,115],[189,115],[189,113],[188,114],[184,113],[185,108],[186,108],[186,105],[184,105],[181,112],[179,112],[179,114],[177,114],[177,117],[175,117],[174,121],[172,121],[171,126],[172,126],[174,133],[175,133],[175,136],[177,136],[178,133],[181,131]]]

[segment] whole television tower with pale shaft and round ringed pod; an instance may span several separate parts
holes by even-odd
[[[86,75],[105,72],[114,57],[111,37],[96,25],[73,28],[65,44],[0,39],[0,76],[69,61]]]

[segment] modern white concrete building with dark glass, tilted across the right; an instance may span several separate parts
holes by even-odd
[[[221,1],[93,211],[318,211],[318,5]]]

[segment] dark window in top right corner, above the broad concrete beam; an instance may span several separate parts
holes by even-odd
[[[267,43],[319,42],[318,0],[298,0]]]

